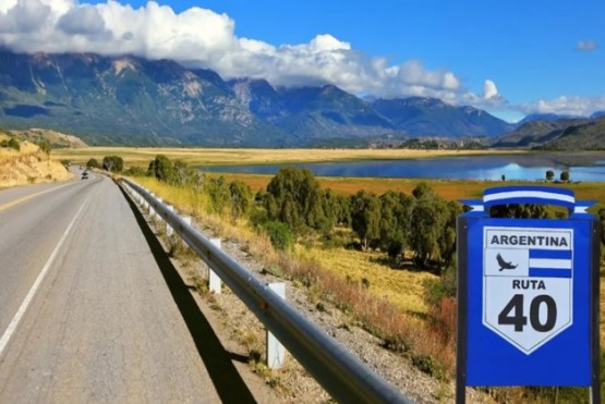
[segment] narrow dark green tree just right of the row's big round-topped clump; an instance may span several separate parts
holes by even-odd
[[[351,227],[364,249],[380,236],[380,200],[374,193],[360,191],[351,197]]]

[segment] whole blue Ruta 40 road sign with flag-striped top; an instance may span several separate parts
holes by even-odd
[[[590,387],[600,402],[598,220],[593,203],[546,186],[485,189],[458,218],[457,403],[465,387]],[[567,219],[492,218],[508,204]]]

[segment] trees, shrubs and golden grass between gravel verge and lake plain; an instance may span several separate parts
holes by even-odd
[[[453,377],[456,218],[463,211],[453,199],[462,192],[463,197],[477,198],[489,185],[476,183],[462,191],[456,182],[408,182],[408,192],[391,187],[378,194],[375,186],[342,192],[325,186],[338,182],[334,179],[283,168],[253,188],[245,176],[207,175],[164,155],[124,173],[222,236],[242,241],[271,274],[305,287],[317,309],[325,302],[334,304],[348,315],[343,327],[370,331],[385,348],[444,382]],[[552,180],[548,173],[546,177]],[[449,187],[457,188],[453,198],[439,192]],[[601,197],[596,185],[576,187],[578,198]],[[603,201],[594,211],[605,234]],[[527,205],[498,207],[493,215],[562,213]],[[517,389],[515,394],[530,401],[576,402],[585,401],[584,390]],[[493,389],[491,394],[506,401],[511,393]]]

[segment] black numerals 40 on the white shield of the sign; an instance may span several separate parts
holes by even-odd
[[[528,317],[523,315],[524,295],[517,294],[498,315],[499,325],[515,326],[515,331],[523,331],[528,325]],[[540,308],[546,305],[546,321],[540,319]],[[557,304],[549,295],[537,295],[530,303],[530,325],[539,332],[547,332],[555,328],[557,322]]]

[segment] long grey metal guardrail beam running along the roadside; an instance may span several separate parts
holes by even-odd
[[[335,400],[412,403],[149,192],[133,181],[122,181],[147,200]]]

